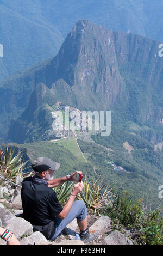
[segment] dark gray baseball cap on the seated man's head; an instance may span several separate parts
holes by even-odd
[[[53,162],[51,159],[47,157],[39,157],[38,159],[34,160],[31,164],[34,172],[46,172],[46,170],[58,170],[60,167],[60,163]]]

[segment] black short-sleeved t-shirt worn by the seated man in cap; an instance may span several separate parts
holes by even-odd
[[[24,179],[21,198],[23,218],[32,225],[44,226],[54,222],[55,216],[63,210],[55,191],[45,184],[33,181],[32,177]]]

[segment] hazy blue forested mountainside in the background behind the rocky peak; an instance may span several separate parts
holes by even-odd
[[[161,0],[2,0],[0,80],[51,58],[80,19],[163,41]]]

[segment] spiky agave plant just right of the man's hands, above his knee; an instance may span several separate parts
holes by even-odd
[[[103,180],[100,180],[100,177],[92,185],[85,178],[84,189],[78,194],[77,198],[84,201],[88,210],[97,212],[97,208],[101,206],[101,201],[104,198],[111,197],[109,194],[111,194],[110,186],[108,185],[104,189]]]

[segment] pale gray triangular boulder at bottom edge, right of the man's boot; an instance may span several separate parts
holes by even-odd
[[[104,242],[106,245],[133,245],[131,240],[117,230],[112,231],[110,235],[106,236]]]

